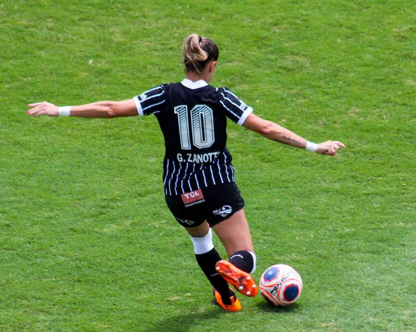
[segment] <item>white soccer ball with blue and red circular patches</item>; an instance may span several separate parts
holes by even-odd
[[[273,306],[290,306],[300,297],[302,278],[285,264],[272,265],[260,278],[260,293]]]

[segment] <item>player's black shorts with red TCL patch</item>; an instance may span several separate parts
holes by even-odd
[[[218,184],[181,195],[165,195],[165,200],[183,227],[197,227],[205,220],[212,227],[244,207],[235,183]]]

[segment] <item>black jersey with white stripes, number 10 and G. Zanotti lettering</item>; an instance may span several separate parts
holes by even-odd
[[[225,87],[188,79],[159,85],[133,100],[139,115],[155,114],[164,134],[166,195],[235,182],[226,148],[227,118],[242,125],[252,107]]]

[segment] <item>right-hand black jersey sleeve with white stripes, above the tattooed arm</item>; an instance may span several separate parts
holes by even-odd
[[[223,108],[225,116],[237,125],[243,125],[245,119],[253,112],[252,107],[245,105],[232,91],[226,87],[217,89],[219,93],[220,107]]]

